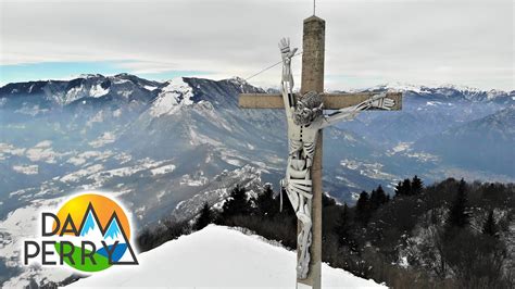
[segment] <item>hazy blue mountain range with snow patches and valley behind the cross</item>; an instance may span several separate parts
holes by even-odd
[[[378,185],[391,193],[415,174],[428,184],[515,179],[515,91],[367,90],[403,91],[403,110],[364,112],[326,129],[324,190],[340,202]],[[137,227],[163,216],[189,219],[204,202],[221,206],[236,185],[251,196],[265,183],[277,190],[285,114],[242,110],[237,99],[266,91],[238,77],[154,81],[129,74],[1,87],[0,234],[15,238],[15,228],[1,228],[16,212],[83,190],[120,198]],[[5,264],[17,248],[15,239],[0,248]]]

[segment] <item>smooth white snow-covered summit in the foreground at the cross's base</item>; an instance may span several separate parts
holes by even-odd
[[[70,287],[294,288],[296,253],[260,236],[210,225]],[[323,264],[323,288],[386,288]]]

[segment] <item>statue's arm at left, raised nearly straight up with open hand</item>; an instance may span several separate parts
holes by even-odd
[[[280,81],[280,92],[282,100],[285,101],[285,109],[287,114],[290,112],[290,108],[296,105],[293,95],[293,75],[291,74],[291,58],[297,52],[297,48],[290,50],[290,39],[282,38],[279,41],[280,55],[282,58],[282,77]]]

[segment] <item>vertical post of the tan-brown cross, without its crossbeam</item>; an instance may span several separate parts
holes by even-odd
[[[302,38],[301,93],[324,92],[324,53],[326,23],[317,16],[304,20]],[[297,280],[297,288],[321,288],[322,279],[322,130],[316,140],[316,150],[311,168],[313,180],[312,234],[310,271],[305,279]],[[300,228],[301,224],[298,224]]]

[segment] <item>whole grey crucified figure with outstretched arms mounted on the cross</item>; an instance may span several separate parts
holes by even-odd
[[[297,274],[302,279],[307,276],[310,268],[313,198],[311,168],[319,129],[337,122],[353,120],[364,110],[390,110],[395,102],[387,98],[386,92],[382,92],[374,95],[356,105],[337,110],[331,114],[324,114],[324,102],[318,92],[293,93],[291,58],[296,54],[297,48],[290,49],[290,40],[282,38],[279,41],[279,49],[282,58],[280,91],[285,102],[289,140],[288,167],[286,168],[285,178],[280,181],[280,186],[286,190],[288,199],[301,223],[301,230],[297,240],[300,252]]]

